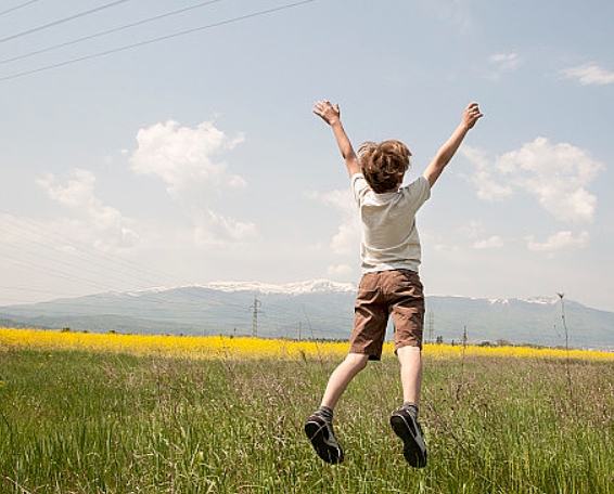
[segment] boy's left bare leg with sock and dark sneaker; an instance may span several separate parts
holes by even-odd
[[[320,408],[307,418],[305,433],[320,458],[330,464],[342,463],[343,448],[333,432],[333,408],[351,379],[367,366],[369,355],[349,353],[333,370]]]

